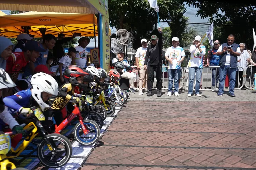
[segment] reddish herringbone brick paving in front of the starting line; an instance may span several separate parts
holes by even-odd
[[[82,169],[255,170],[254,91],[202,95],[131,95]]]

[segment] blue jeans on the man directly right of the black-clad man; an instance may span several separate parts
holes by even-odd
[[[179,91],[179,71],[177,69],[168,69],[168,92],[172,92],[174,79],[174,93]]]

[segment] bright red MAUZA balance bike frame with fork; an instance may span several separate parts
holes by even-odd
[[[73,104],[74,106],[74,110],[72,111],[72,113],[65,119],[63,120],[59,126],[57,126],[56,122],[54,119],[53,120],[53,123],[55,124],[55,132],[54,133],[58,133],[60,134],[60,132],[76,117],[78,116],[79,118],[79,122],[82,126],[82,129],[83,129],[83,132],[85,135],[87,135],[89,133],[89,130],[86,129],[86,126],[84,125],[84,119],[83,117],[81,116],[81,113],[80,113],[80,110],[79,110],[79,107],[77,104]]]

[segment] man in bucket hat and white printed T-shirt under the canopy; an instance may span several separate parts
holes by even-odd
[[[76,56],[72,58],[72,65],[77,65],[82,68],[86,68],[87,64],[89,62],[88,60],[88,51],[85,48],[89,43],[90,39],[87,37],[82,37],[78,40],[79,46],[75,47],[76,51]]]

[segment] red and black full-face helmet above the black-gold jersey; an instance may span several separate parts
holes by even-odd
[[[68,66],[64,73],[63,73],[65,78],[68,78],[70,83],[74,86],[78,86],[81,87],[83,89],[87,88],[86,84],[81,84],[77,81],[77,77],[80,76],[86,76],[89,75],[83,68],[79,67],[79,66]]]

